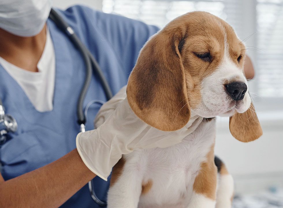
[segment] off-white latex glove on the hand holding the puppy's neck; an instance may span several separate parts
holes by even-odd
[[[107,181],[112,167],[123,154],[138,148],[165,148],[177,144],[198,127],[201,122],[198,118],[191,116],[187,125],[177,131],[151,127],[135,115],[126,99],[126,87],[123,87],[101,107],[96,118],[98,128],[77,135],[77,150],[85,165]]]

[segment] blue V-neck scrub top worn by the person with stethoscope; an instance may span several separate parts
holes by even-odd
[[[57,10],[94,55],[113,94],[127,83],[144,43],[158,31],[122,16],[105,14],[83,6],[66,11]],[[6,113],[18,122],[16,133],[0,147],[1,174],[5,180],[45,166],[76,148],[79,132],[76,107],[85,79],[85,65],[81,54],[68,37],[51,21],[47,21],[56,57],[53,110],[38,112],[18,83],[0,65],[0,96]],[[1,40],[0,40],[1,41]],[[84,106],[99,99],[106,101],[100,81],[94,74]],[[93,120],[100,105],[91,105],[86,129],[93,129]],[[56,177],[56,176],[54,176]],[[94,190],[106,200],[108,182],[94,179]],[[62,207],[99,207],[90,197],[87,185]]]

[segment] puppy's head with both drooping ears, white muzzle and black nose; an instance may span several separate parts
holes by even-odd
[[[191,109],[199,116],[230,116],[232,135],[243,142],[262,130],[243,74],[245,46],[233,28],[206,12],[190,12],[152,36],[128,81],[127,98],[149,125],[174,131]]]

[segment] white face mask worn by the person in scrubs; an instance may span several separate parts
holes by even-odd
[[[1,0],[0,28],[17,36],[35,36],[44,27],[51,5],[51,0]]]

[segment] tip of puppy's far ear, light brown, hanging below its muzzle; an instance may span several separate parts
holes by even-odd
[[[262,135],[253,103],[246,112],[236,113],[230,117],[229,128],[233,137],[241,142],[251,142]]]

